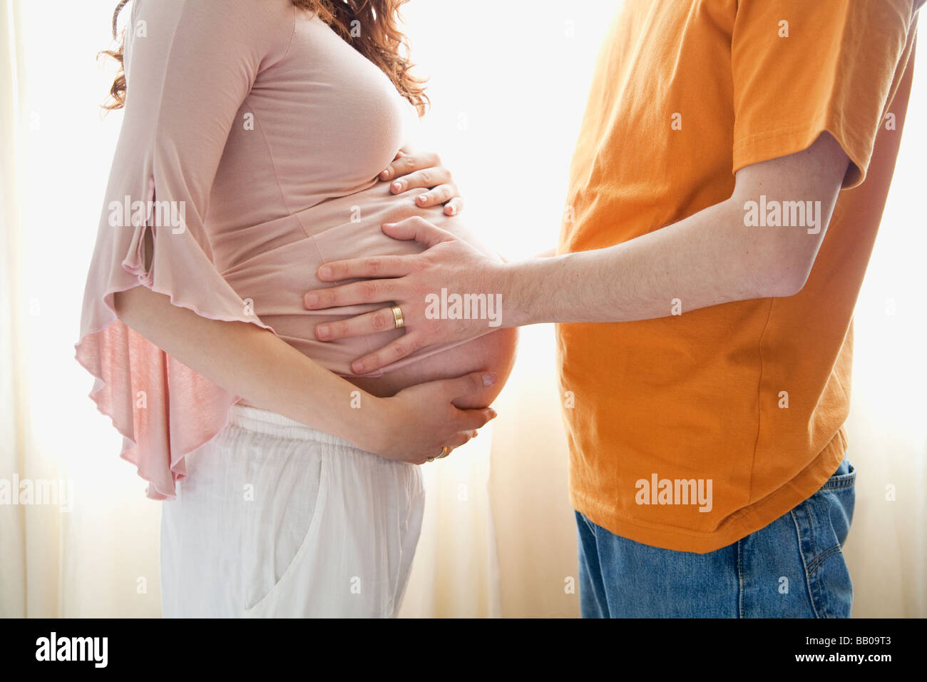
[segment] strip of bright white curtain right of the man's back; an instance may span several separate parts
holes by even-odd
[[[856,616],[927,615],[927,45],[907,121],[855,315],[847,457],[859,474],[845,554]]]

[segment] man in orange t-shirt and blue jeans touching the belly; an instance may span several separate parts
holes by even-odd
[[[571,165],[555,257],[491,264],[412,219],[419,255],[326,264],[306,305],[387,307],[385,367],[501,294],[560,323],[585,616],[848,616],[852,316],[894,170],[923,0],[628,0]],[[843,191],[841,191],[843,190]],[[451,317],[452,315],[445,315]],[[477,315],[478,316],[478,315]]]

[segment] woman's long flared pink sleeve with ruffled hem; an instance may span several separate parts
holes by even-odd
[[[222,278],[205,225],[229,132],[260,73],[286,54],[293,12],[289,0],[133,3],[121,134],[76,356],[124,438],[122,457],[156,499],[175,494],[184,457],[222,431],[238,396],[122,324],[113,296],[145,286],[197,315],[270,329]]]

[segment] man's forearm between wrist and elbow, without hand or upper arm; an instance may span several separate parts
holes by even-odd
[[[746,230],[768,230],[768,238]],[[614,247],[507,264],[503,325],[627,322],[790,296],[807,273],[784,264],[774,230],[812,238],[800,227],[745,226],[743,201],[728,199]]]

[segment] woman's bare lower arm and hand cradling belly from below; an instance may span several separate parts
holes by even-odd
[[[495,417],[489,408],[451,405],[482,391],[495,381],[491,375],[477,372],[378,398],[256,325],[201,317],[145,287],[118,292],[114,300],[126,326],[226,391],[383,457],[421,464],[445,445],[466,443]],[[352,406],[358,392],[359,408]]]

